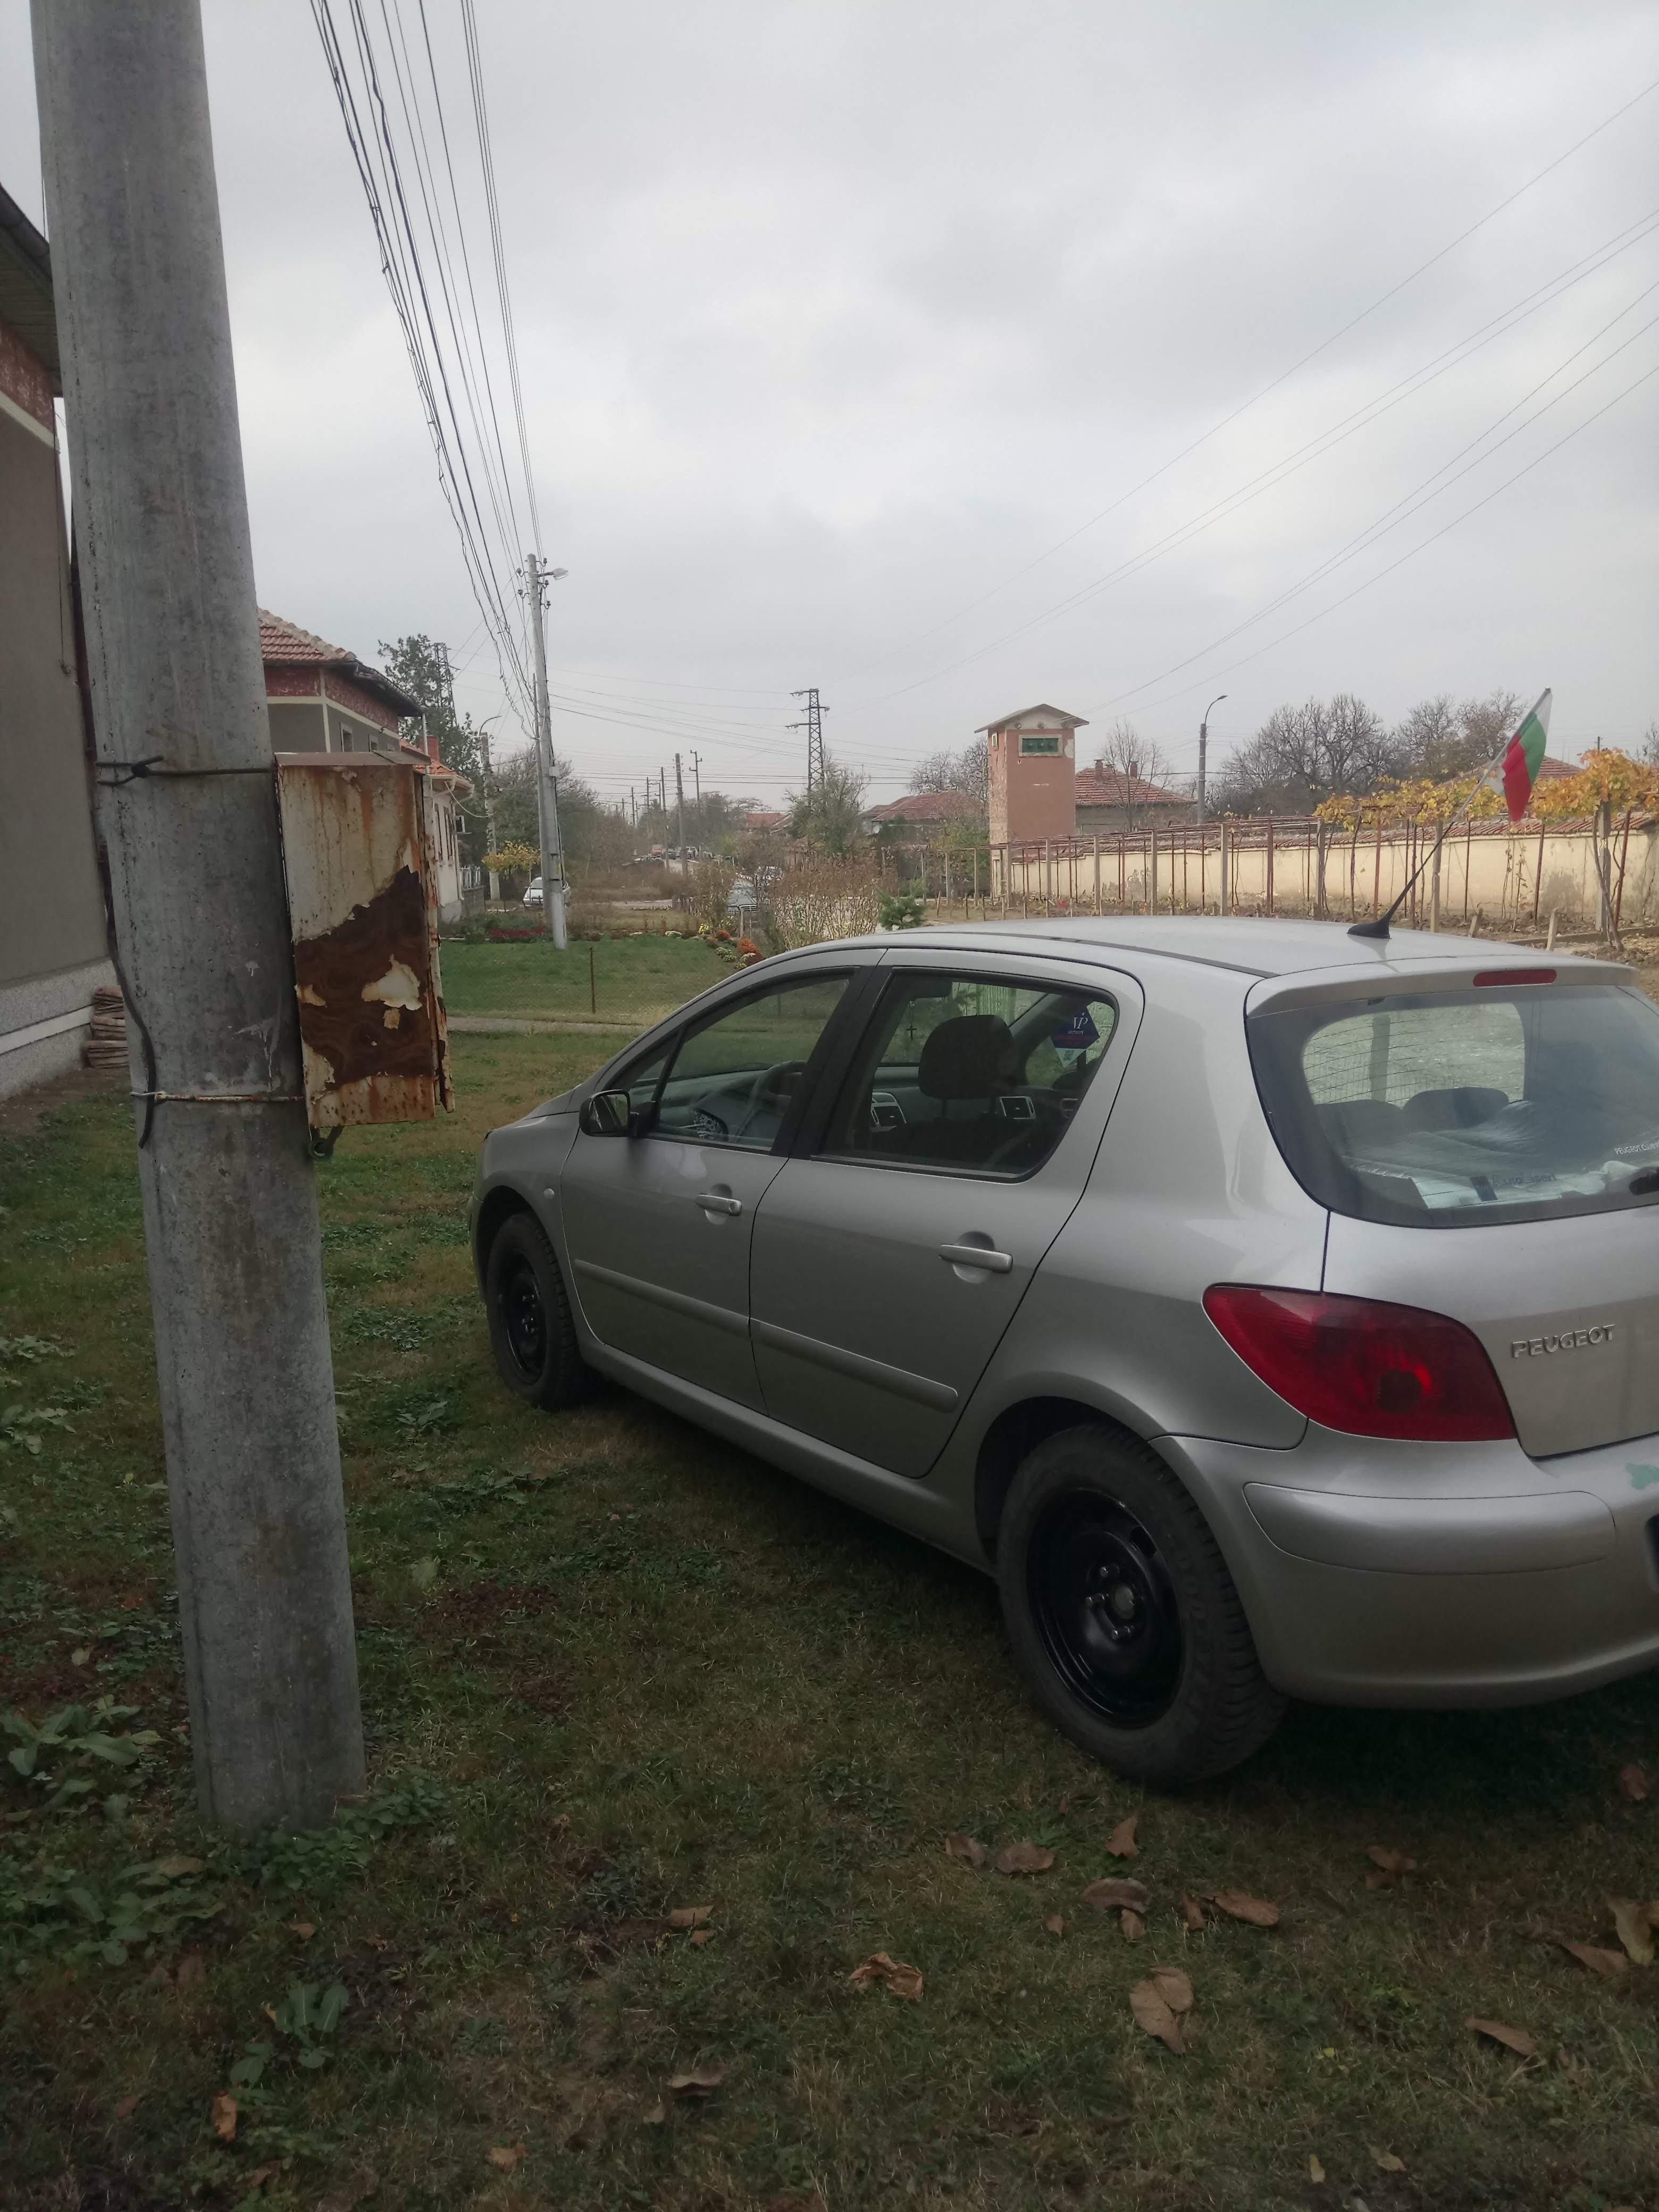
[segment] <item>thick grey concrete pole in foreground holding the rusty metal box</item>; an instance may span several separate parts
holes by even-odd
[[[316,1827],[363,1721],[201,18],[33,42],[197,1798]]]

